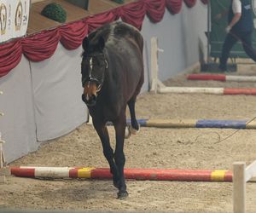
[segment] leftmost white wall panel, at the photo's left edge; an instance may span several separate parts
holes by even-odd
[[[0,131],[6,141],[3,150],[7,162],[38,148],[32,101],[32,81],[29,63],[22,57],[20,64],[0,78]]]

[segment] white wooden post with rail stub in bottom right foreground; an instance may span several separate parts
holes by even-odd
[[[256,160],[246,167],[244,162],[233,164],[233,210],[246,212],[246,182],[256,176]]]

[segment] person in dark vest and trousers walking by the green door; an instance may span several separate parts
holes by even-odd
[[[246,54],[256,61],[256,50],[253,49],[252,45],[253,14],[251,0],[231,0],[228,13],[227,36],[224,40],[218,66],[222,72],[227,71],[230,50],[238,40],[241,41]]]

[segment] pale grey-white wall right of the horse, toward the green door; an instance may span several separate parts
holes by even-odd
[[[195,7],[189,9],[184,3],[179,14],[170,14],[166,9],[163,20],[154,24],[145,17],[143,21],[143,37],[148,64],[145,75],[150,75],[150,39],[158,37],[159,48],[159,78],[164,81],[182,72],[199,60],[199,40],[204,44],[207,53],[207,5],[197,1]],[[145,60],[145,61],[147,61]],[[143,85],[143,91],[148,88],[148,80]]]

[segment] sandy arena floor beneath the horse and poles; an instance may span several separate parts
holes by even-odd
[[[243,70],[243,71],[241,71]],[[246,71],[245,71],[246,70]],[[232,73],[233,74],[233,73]],[[241,66],[239,75],[256,75]],[[172,86],[256,87],[256,83],[187,81]],[[256,97],[250,95],[152,95],[137,100],[137,118],[250,119]],[[231,170],[234,161],[256,159],[256,130],[141,128],[125,141],[125,168]],[[113,141],[113,128],[109,127]],[[101,142],[90,125],[44,144],[9,166],[108,167]],[[232,184],[227,182],[126,181],[128,199],[118,200],[112,181],[36,180],[8,177],[0,185],[0,208],[36,210],[101,210],[134,212],[232,212]],[[247,183],[247,212],[256,209],[256,183]],[[1,210],[0,210],[1,211]],[[1,211],[2,212],[2,211]],[[4,212],[4,211],[3,211]]]

